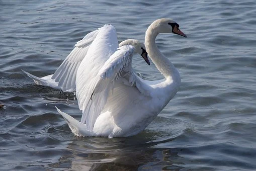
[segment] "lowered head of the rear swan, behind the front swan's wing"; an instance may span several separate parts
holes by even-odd
[[[143,57],[143,59],[147,62],[147,64],[150,65],[150,62],[149,62],[149,59],[147,56],[147,52],[146,52],[146,47],[145,47],[144,43],[141,43],[140,41],[135,40],[135,39],[127,39],[127,40],[122,41],[119,44],[119,47],[124,46],[124,45],[132,45],[135,48],[135,52],[140,54]]]

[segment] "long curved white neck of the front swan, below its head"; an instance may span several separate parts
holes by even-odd
[[[156,68],[167,78],[169,76],[175,78],[177,69],[157,48],[155,38],[159,34],[155,25],[150,25],[145,35],[145,46],[148,56],[151,58]],[[179,73],[178,73],[179,74]]]

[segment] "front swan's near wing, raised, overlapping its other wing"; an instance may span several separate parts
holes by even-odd
[[[84,85],[82,90],[86,90],[86,93],[79,92],[77,100],[82,110],[81,123],[86,122],[89,130],[93,130],[95,121],[107,102],[109,91],[128,66],[133,52],[134,48],[130,45],[120,47],[109,57],[90,83]]]

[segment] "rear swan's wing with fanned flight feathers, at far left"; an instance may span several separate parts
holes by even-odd
[[[58,82],[58,87],[63,92],[75,90],[76,71],[101,29],[102,28],[99,28],[98,30],[88,33],[82,40],[78,41],[74,45],[75,48],[52,75],[51,79]]]

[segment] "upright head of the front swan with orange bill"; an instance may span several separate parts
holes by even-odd
[[[159,33],[174,33],[174,34],[187,37],[186,34],[184,34],[179,29],[180,27],[179,24],[172,19],[158,19],[154,21],[152,25],[157,28]]]

